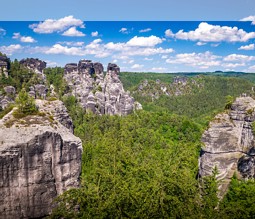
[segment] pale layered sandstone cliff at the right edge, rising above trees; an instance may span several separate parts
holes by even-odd
[[[199,174],[211,175],[217,167],[220,196],[235,172],[241,178],[255,177],[254,109],[255,100],[251,97],[237,98],[231,109],[218,114],[203,134],[205,147],[201,151]]]

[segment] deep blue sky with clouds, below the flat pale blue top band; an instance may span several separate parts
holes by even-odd
[[[255,72],[255,16],[244,21],[0,21],[0,51],[48,66],[80,59],[122,71]],[[249,20],[249,21],[247,21]]]

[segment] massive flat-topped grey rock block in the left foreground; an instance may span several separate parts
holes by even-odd
[[[81,140],[60,101],[36,100],[40,114],[0,120],[0,218],[41,218],[79,186]]]

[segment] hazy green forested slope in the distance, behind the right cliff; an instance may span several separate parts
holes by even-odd
[[[224,111],[227,96],[235,98],[244,92],[249,94],[253,86],[247,80],[231,77],[202,76],[196,80],[203,86],[199,89],[192,88],[184,95],[161,95],[152,100],[151,97],[136,93],[134,97],[147,111],[185,115],[206,126],[215,114]],[[230,103],[231,101],[228,102]]]

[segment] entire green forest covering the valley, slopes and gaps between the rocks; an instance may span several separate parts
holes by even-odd
[[[203,131],[234,97],[253,95],[253,75],[189,74],[203,86],[152,100],[137,92],[139,84],[145,79],[155,86],[157,79],[170,84],[174,74],[121,73],[125,89],[144,110],[120,117],[85,114],[75,97],[64,96],[63,69],[45,73],[83,142],[81,187],[58,197],[50,218],[255,218],[254,180],[234,176],[219,200],[217,169],[212,176],[198,177]],[[39,80],[14,61],[0,87],[12,85],[21,96],[32,79]]]

